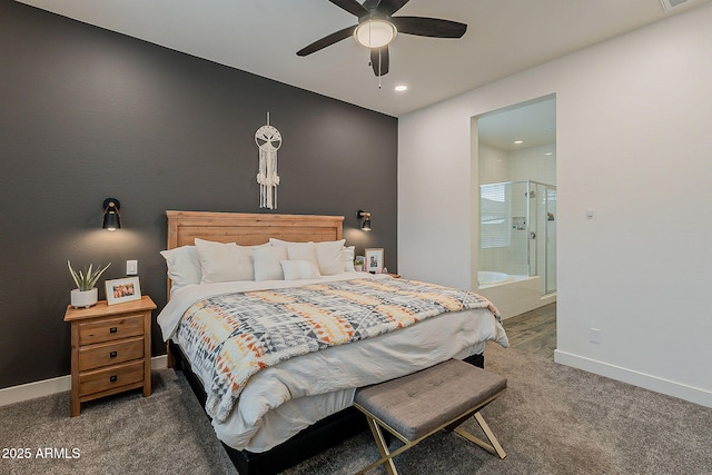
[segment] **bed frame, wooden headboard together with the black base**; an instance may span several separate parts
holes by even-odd
[[[251,246],[269,238],[288,241],[338,240],[343,236],[343,216],[273,215],[209,211],[166,211],[168,217],[168,249],[192,245],[195,238]],[[170,279],[168,280],[170,298]],[[206,393],[190,369],[180,348],[168,344],[168,366],[182,370],[196,397],[205,407]],[[466,362],[484,367],[483,355]],[[366,419],[348,407],[301,431],[289,441],[265,453],[236,451],[224,447],[240,475],[277,474],[365,431]]]

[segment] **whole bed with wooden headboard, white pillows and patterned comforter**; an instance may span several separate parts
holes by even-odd
[[[169,303],[158,323],[168,362],[186,374],[243,475],[278,473],[364,429],[352,407],[357,387],[452,357],[483,366],[486,340],[508,346],[496,308],[475,294],[355,273],[340,216],[166,214],[168,246],[161,254]],[[191,265],[186,265],[188,251]],[[239,265],[230,260],[238,255]],[[251,279],[249,273],[231,274],[247,268],[247,255]],[[435,291],[433,301],[403,300]],[[352,306],[354,300],[359,301]],[[462,310],[441,315],[435,308],[443,305]],[[423,317],[414,318],[412,308],[418,306]],[[346,315],[338,325],[332,323],[333,307]],[[385,309],[383,315],[372,313],[375,307]],[[247,308],[270,315],[271,323],[246,316]],[[206,336],[208,325],[236,339],[216,344],[215,334]],[[267,345],[266,327],[289,333]],[[283,345],[293,339],[298,343]],[[229,353],[228,346],[243,353]]]

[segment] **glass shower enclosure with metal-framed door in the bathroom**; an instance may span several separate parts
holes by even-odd
[[[556,187],[537,181],[479,186],[479,269],[540,276],[556,291]]]

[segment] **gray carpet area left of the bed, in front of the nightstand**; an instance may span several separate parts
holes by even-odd
[[[154,372],[152,385],[150,397],[85,403],[78,417],[68,392],[0,407],[0,446],[31,452],[0,459],[0,474],[235,474],[182,375]],[[39,458],[47,447],[78,448],[79,458]]]

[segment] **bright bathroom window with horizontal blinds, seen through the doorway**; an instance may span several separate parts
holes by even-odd
[[[510,245],[508,206],[504,184],[479,187],[479,241],[483,249]]]

